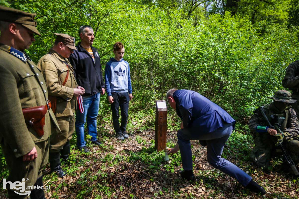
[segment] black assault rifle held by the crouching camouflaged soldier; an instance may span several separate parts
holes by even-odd
[[[277,131],[277,133],[280,134],[280,135],[277,135],[276,137],[278,137],[278,138],[281,138],[281,137],[282,137],[282,140],[279,140],[279,139],[278,139],[278,142],[275,144],[275,146],[280,146],[280,149],[281,149],[282,152],[283,152],[283,156],[284,156],[284,158],[286,159],[286,162],[287,162],[288,165],[291,167],[291,169],[292,169],[293,173],[295,174],[295,176],[298,176],[298,175],[299,175],[299,172],[298,172],[298,170],[296,169],[296,165],[295,165],[294,161],[292,160],[292,158],[289,156],[289,154],[287,154],[286,149],[285,149],[284,146],[283,146],[283,143],[282,143],[282,141],[283,141],[283,132],[281,132],[281,130],[280,130],[280,128],[279,128],[279,127],[280,127],[280,124],[279,124],[279,123],[276,123],[276,124],[272,125],[272,124],[270,123],[268,117],[267,117],[266,114],[265,114],[265,110],[264,110],[264,107],[263,107],[263,106],[260,107],[260,111],[261,111],[263,117],[265,118],[265,120],[267,121],[269,127],[275,129],[275,130]]]

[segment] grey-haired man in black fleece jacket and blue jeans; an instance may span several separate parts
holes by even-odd
[[[80,151],[89,152],[84,140],[84,124],[86,123],[91,143],[100,146],[97,140],[97,115],[100,105],[100,94],[105,94],[105,84],[102,75],[102,65],[99,53],[92,47],[94,32],[90,26],[79,28],[81,42],[76,46],[77,50],[70,56],[71,65],[78,85],[85,88],[83,97],[84,113],[76,113],[77,147]]]

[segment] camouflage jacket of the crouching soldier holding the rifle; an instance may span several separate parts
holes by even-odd
[[[275,115],[275,113],[270,109],[270,105],[264,106],[265,114],[268,117],[270,123],[271,115]],[[298,135],[299,133],[299,122],[296,116],[296,112],[290,106],[287,106],[284,113],[282,114],[285,117],[285,120],[282,122],[280,130],[283,131],[285,136],[285,140],[291,139],[293,136]],[[260,111],[254,113],[254,115],[249,120],[249,129],[251,132],[257,132],[257,126],[268,126],[267,121],[264,119],[263,115]],[[267,133],[267,132],[265,132]]]

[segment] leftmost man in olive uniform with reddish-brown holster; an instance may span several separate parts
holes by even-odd
[[[0,143],[9,170],[5,180],[25,183],[22,190],[7,182],[9,198],[44,198],[42,189],[27,188],[42,186],[49,136],[54,126],[59,129],[41,71],[24,52],[35,41],[33,34],[40,35],[35,16],[0,6]]]

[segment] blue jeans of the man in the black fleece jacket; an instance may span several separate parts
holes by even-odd
[[[91,142],[97,140],[97,115],[99,113],[100,96],[100,93],[90,96],[82,96],[84,113],[77,111],[75,124],[78,148],[86,146],[86,141],[84,140],[84,124],[86,123],[86,116],[88,134],[91,136]]]

